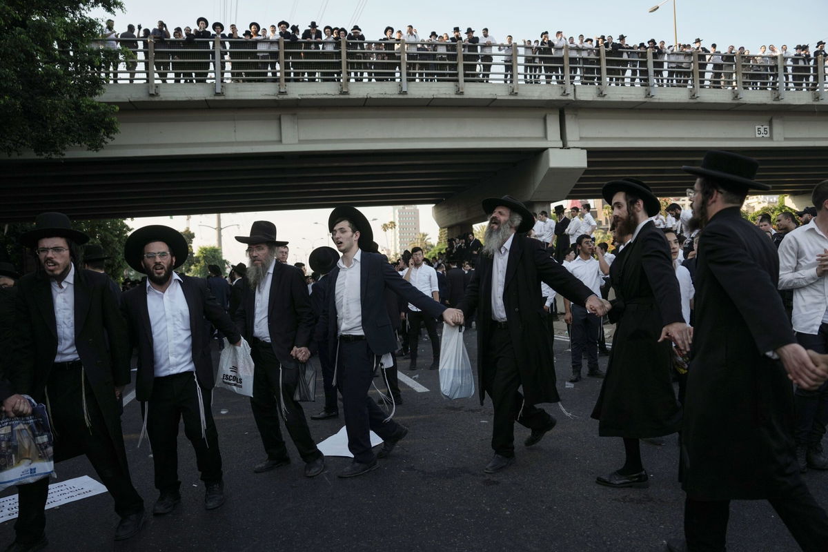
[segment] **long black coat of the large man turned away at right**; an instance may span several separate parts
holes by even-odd
[[[696,500],[768,498],[798,477],[792,385],[765,354],[796,343],[776,248],[739,209],[724,209],[701,233],[698,259],[683,487]]]

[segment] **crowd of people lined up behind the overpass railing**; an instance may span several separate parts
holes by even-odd
[[[212,29],[212,32],[210,32]],[[704,46],[701,38],[692,44],[667,46],[665,41],[649,39],[646,43],[628,41],[620,34],[613,36],[566,36],[556,31],[542,31],[540,38],[516,41],[507,35],[503,41],[483,28],[480,34],[472,27],[465,31],[455,26],[451,32],[431,31],[428,36],[408,25],[405,29],[386,26],[377,40],[363,35],[359,25],[319,26],[310,22],[302,31],[300,26],[281,21],[270,26],[250,22],[247,30],[235,24],[225,32],[224,24],[212,26],[205,17],[199,17],[195,26],[176,26],[173,31],[163,21],[155,28],[128,25],[118,34],[113,20],[101,31],[99,47],[119,51],[128,79],[118,74],[118,55],[103,62],[102,74],[111,82],[135,81],[139,54],[143,56],[143,73],[155,70],[161,82],[206,82],[210,67],[219,69],[226,79],[268,81],[279,79],[280,72],[289,82],[313,82],[350,79],[352,81],[388,81],[402,79],[401,49],[405,43],[408,74],[411,81],[456,80],[458,78],[458,47],[462,50],[463,77],[470,82],[514,82],[526,84],[564,84],[565,73],[572,84],[599,84],[599,58],[603,51],[607,60],[609,85],[646,86],[649,69],[647,52],[652,54],[652,71],[658,86],[692,86],[693,55],[700,64],[699,85],[710,88],[734,88],[738,74],[742,74],[747,89],[776,89],[779,79],[787,89],[816,89],[819,66],[828,63],[825,41],[777,49],[773,44],[759,46],[753,52],[744,46],[722,46],[715,43]],[[219,39],[220,59],[209,51],[213,45],[206,39]],[[343,75],[340,56],[342,39],[349,52],[348,74]],[[148,48],[152,41],[154,56],[150,66]],[[280,44],[285,51],[280,65]],[[513,50],[513,45],[519,45]],[[140,46],[140,47],[139,47]],[[514,55],[517,51],[517,67]],[[737,64],[737,54],[740,63]],[[566,58],[566,64],[565,64]],[[229,62],[229,65],[228,65]],[[783,70],[779,70],[779,64]],[[284,65],[284,66],[282,66]],[[497,66],[502,65],[498,70]],[[568,65],[566,69],[565,65]],[[740,65],[739,68],[736,65]],[[495,70],[493,70],[493,66]],[[517,74],[516,74],[517,73]],[[214,73],[215,74],[215,73]],[[213,75],[213,78],[214,75]]]

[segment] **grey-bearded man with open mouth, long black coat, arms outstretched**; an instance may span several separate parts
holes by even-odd
[[[494,456],[484,471],[495,473],[514,462],[515,421],[532,430],[527,446],[556,424],[536,406],[561,400],[541,281],[592,313],[604,315],[609,304],[553,261],[541,242],[525,235],[534,221],[520,201],[509,195],[489,198],[483,210],[489,215],[484,248],[459,308],[465,314],[477,311],[480,404],[488,393],[494,408]]]

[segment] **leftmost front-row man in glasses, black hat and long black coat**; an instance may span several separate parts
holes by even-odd
[[[115,539],[141,529],[142,498],[129,477],[118,400],[129,383],[129,339],[107,278],[78,266],[89,241],[60,213],[36,218],[20,242],[37,255],[37,270],[18,285],[12,390],[47,403],[55,462],[86,454],[121,517]],[[17,487],[17,549],[46,545],[49,479]]]

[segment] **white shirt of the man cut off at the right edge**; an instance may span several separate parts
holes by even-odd
[[[828,275],[816,276],[816,256],[828,249],[828,237],[816,220],[785,235],[779,243],[779,289],[793,290],[793,329],[819,333],[828,323]]]

